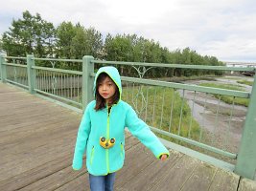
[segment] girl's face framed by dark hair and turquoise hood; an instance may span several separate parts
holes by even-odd
[[[106,76],[103,81],[99,82],[98,92],[105,98],[106,103],[111,103],[112,96],[116,92],[116,85],[110,77]]]

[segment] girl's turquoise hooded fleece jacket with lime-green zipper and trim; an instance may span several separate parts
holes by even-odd
[[[107,108],[96,112],[94,109],[95,100],[87,105],[78,131],[73,169],[81,169],[85,148],[86,167],[90,174],[103,176],[121,169],[125,160],[125,127],[128,127],[130,133],[147,146],[157,159],[163,154],[169,156],[169,151],[151,132],[149,126],[137,117],[127,102],[121,100],[121,78],[116,68],[100,68],[95,76],[94,94],[96,80],[101,73],[108,74],[116,83],[120,92],[120,99],[117,104],[112,105],[109,114]],[[102,147],[100,145],[101,137],[115,138],[114,146],[108,149]]]

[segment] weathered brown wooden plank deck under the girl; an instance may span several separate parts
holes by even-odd
[[[0,191],[89,190],[73,171],[81,115],[0,82]],[[127,134],[126,162],[115,190],[256,190],[256,182],[171,150],[166,161]]]

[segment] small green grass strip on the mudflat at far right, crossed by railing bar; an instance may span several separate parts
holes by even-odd
[[[216,83],[201,83],[200,86],[206,86],[206,87],[213,87],[213,88],[220,88],[220,89],[227,89],[227,90],[236,90],[236,91],[244,91],[242,86],[233,85],[233,84],[216,84]],[[220,95],[214,95],[217,98],[220,98]],[[232,104],[234,101],[234,104],[238,105],[249,105],[249,99],[248,98],[241,98],[241,97],[235,97],[233,99],[233,96],[221,96],[220,98],[225,103]]]

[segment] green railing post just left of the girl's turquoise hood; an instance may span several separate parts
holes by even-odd
[[[81,93],[82,93],[82,111],[84,112],[86,105],[93,100],[93,76],[91,74],[94,73],[94,63],[91,62],[93,60],[93,56],[84,55],[82,57],[82,85],[81,85]]]

